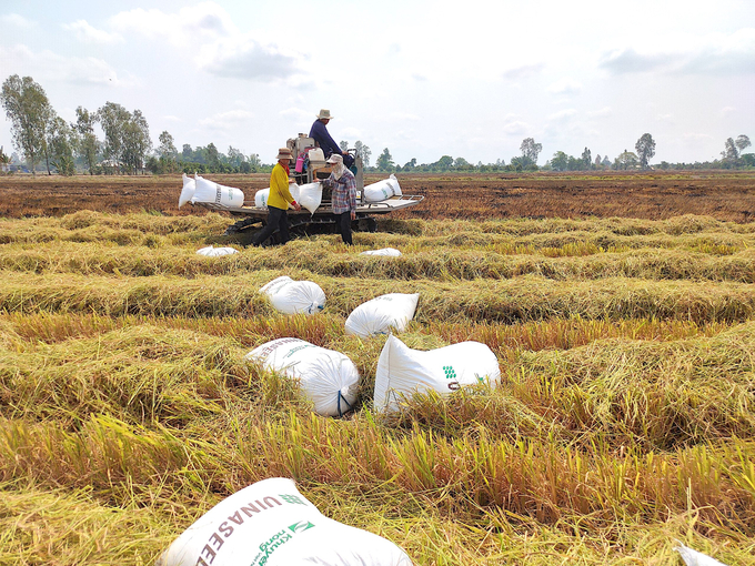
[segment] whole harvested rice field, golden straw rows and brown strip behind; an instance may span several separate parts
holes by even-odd
[[[423,208],[353,250],[204,257],[232,220],[177,179],[0,178],[0,565],[152,564],[271,476],[416,565],[753,564],[755,175],[399,179]],[[284,274],[325,311],[276,314]],[[385,338],[344,321],[389,292],[420,293],[402,341],[483,342],[501,386],[374,413]],[[354,413],[243,363],[284,336],[352,358]]]

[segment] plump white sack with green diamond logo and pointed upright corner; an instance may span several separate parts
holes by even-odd
[[[501,368],[480,342],[460,342],[429,352],[412,350],[390,335],[378,360],[375,411],[395,411],[402,397],[434,390],[447,394],[464,385],[496,383]]]

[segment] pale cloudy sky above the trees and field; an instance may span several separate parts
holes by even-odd
[[[399,164],[507,163],[524,138],[540,164],[614,159],[645,132],[653,162],[755,142],[753,0],[0,0],[0,80],[32,77],[68,121],[139,109],[179,150],[272,162],[321,108],[336,141]]]

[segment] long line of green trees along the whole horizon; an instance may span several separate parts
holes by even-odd
[[[48,174],[63,175],[85,171],[90,174],[138,174],[150,172],[165,173],[256,173],[269,172],[272,164],[262,163],[260,155],[245,155],[229,146],[226,153],[218,150],[214,143],[192,148],[183,144],[179,152],[173,137],[163,131],[159,145],[153,148],[149,124],[140,110],[128,111],[121,104],[105,102],[97,111],[78,107],[76,122],[66,122],[52,108],[42,87],[31,77],[9,77],[2,84],[0,103],[11,122],[12,143],[26,161],[27,168],[36,174],[39,164],[44,165]],[[94,125],[99,124],[104,138],[98,139]],[[341,141],[342,149],[349,148]],[[653,165],[654,169],[742,169],[755,166],[755,154],[744,153],[751,144],[747,135],[728,138],[722,158],[709,162],[667,163]],[[526,138],[520,146],[521,154],[511,158],[509,163],[473,164],[464,158],[443,155],[433,163],[417,163],[413,158],[404,165],[394,162],[387,148],[370,166],[371,150],[361,141],[354,144],[362,156],[366,170],[382,172],[525,172],[525,171],[594,171],[594,170],[635,170],[651,168],[655,155],[655,140],[644,133],[635,143],[635,151],[624,150],[614,160],[597,154],[594,159],[588,148],[580,156],[557,151],[538,166],[537,160],[542,144]],[[13,153],[8,155],[0,148],[0,172],[10,171],[11,165],[21,164]]]

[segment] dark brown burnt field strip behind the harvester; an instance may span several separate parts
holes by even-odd
[[[269,175],[207,175],[244,191],[248,201],[268,186]],[[387,176],[370,173],[365,183]],[[665,220],[684,214],[749,222],[755,216],[753,172],[608,172],[590,175],[397,173],[404,194],[424,202],[392,214],[396,219],[636,218]],[[60,216],[79,210],[202,214],[179,211],[180,175],[6,176],[0,179],[0,215]]]

